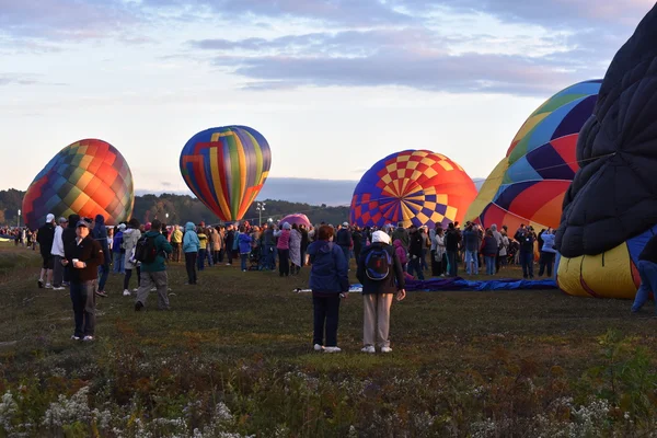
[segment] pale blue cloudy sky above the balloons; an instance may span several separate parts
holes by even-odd
[[[653,5],[0,0],[0,189],[100,138],[136,189],[184,192],[183,146],[226,125],[267,138],[275,178],[357,181],[404,149],[485,177],[543,101],[604,76]]]

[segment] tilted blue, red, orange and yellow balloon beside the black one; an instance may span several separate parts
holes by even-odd
[[[529,116],[465,219],[484,227],[506,224],[511,233],[520,223],[538,230],[558,227],[564,194],[579,169],[579,130],[593,112],[601,82],[569,87]]]

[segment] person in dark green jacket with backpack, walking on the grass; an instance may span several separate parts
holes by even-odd
[[[169,279],[164,261],[166,254],[171,254],[173,247],[160,232],[162,222],[154,219],[150,230],[143,234],[135,247],[135,258],[141,262],[141,285],[137,290],[135,310],[140,311],[146,306],[146,300],[151,288],[158,289],[158,307],[160,310],[169,310]]]

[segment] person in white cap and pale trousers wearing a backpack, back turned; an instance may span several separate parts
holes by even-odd
[[[397,301],[406,298],[404,269],[390,237],[383,231],[372,233],[372,244],[362,251],[358,260],[356,277],[362,284],[362,351],[390,353],[390,307],[396,293]]]

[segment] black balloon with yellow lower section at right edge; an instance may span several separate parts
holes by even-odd
[[[657,7],[613,58],[579,135],[583,165],[555,240],[557,284],[570,295],[632,299],[641,284],[638,256],[657,233],[655,41]]]

